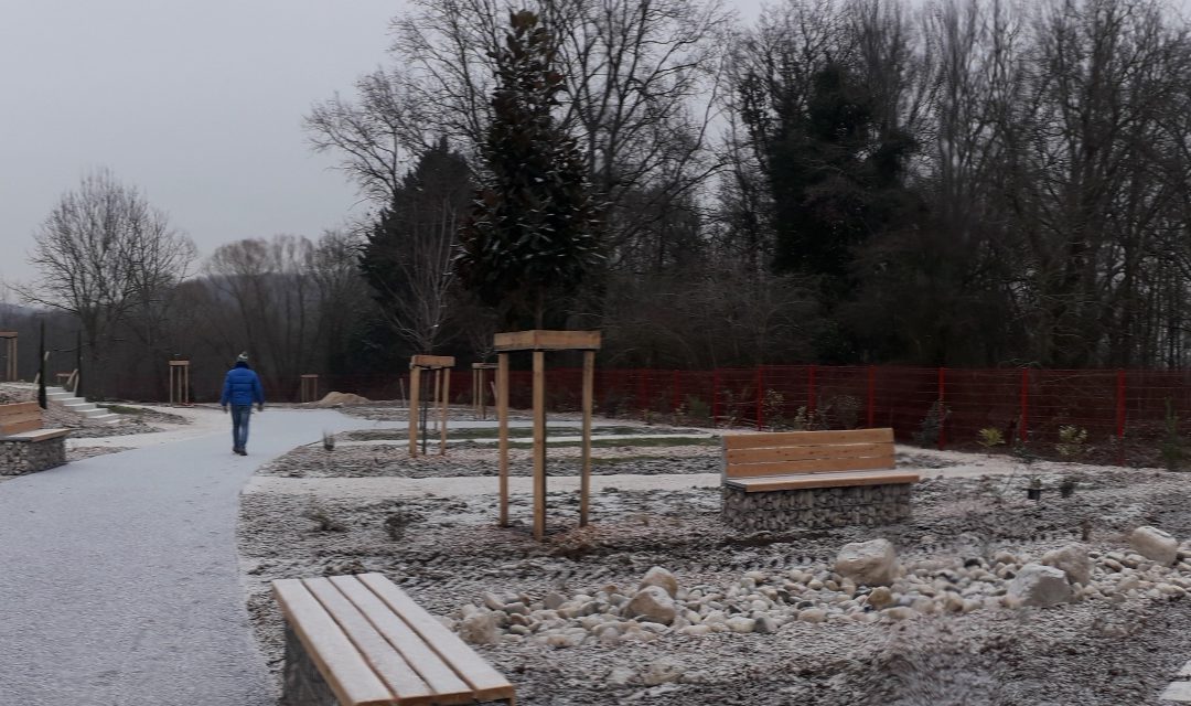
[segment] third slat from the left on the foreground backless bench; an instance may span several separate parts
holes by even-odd
[[[360,579],[331,576],[330,580],[438,696],[436,704],[472,702],[472,687]]]

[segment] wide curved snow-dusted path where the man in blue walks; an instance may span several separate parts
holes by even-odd
[[[237,568],[238,494],[269,458],[369,425],[266,410],[247,457],[229,421],[0,483],[0,702],[275,704]]]

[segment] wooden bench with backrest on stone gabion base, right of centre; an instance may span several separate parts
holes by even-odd
[[[723,437],[723,518],[741,530],[881,525],[910,517],[918,474],[898,470],[892,429]]]

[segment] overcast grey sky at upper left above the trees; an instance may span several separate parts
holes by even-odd
[[[755,17],[760,0],[737,0]],[[404,0],[0,0],[0,281],[33,279],[33,232],[106,167],[207,256],[317,237],[358,202],[301,119],[387,62]],[[0,296],[2,300],[2,296]]]

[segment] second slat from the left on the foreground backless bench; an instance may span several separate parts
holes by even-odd
[[[388,644],[376,627],[351,604],[328,579],[304,579],[303,585],[323,604],[335,618],[348,639],[372,666],[373,671],[392,689],[392,699],[400,706],[419,706],[435,702],[434,689],[422,681],[413,667]]]

